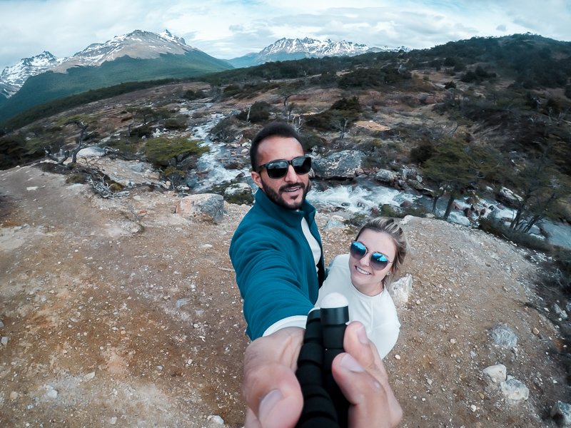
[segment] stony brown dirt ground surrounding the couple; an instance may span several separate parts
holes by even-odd
[[[34,166],[0,172],[1,427],[243,426],[248,339],[228,245],[248,207],[226,205],[213,225],[176,215],[177,203],[146,186],[101,199]],[[553,351],[566,349],[534,292],[528,259],[541,255],[439,220],[404,228],[413,290],[385,359],[400,426],[555,427],[550,408],[569,386]],[[326,263],[353,238],[321,235]],[[497,322],[515,350],[493,344]],[[527,401],[482,374],[499,363]]]

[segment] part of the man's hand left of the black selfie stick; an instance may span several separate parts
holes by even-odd
[[[259,427],[295,427],[303,407],[294,372],[302,341],[303,329],[283,329],[246,349],[242,393]]]

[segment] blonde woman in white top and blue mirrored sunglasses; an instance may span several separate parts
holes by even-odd
[[[369,220],[351,243],[350,253],[338,255],[327,268],[316,306],[330,292],[349,300],[349,318],[365,325],[381,358],[393,349],[400,322],[385,285],[398,272],[408,253],[403,229],[392,218]]]

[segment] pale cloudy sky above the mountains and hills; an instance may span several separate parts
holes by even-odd
[[[1,71],[136,29],[168,29],[226,59],[283,37],[411,49],[528,31],[571,41],[571,0],[0,0],[0,22]]]

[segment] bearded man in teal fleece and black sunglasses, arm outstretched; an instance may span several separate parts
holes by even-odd
[[[246,427],[290,428],[303,407],[295,378],[303,328],[323,282],[315,208],[305,201],[311,163],[297,133],[279,122],[253,139],[250,158],[259,190],[230,246],[253,340],[244,357]],[[343,346],[333,376],[352,404],[350,427],[395,427],[402,410],[363,325],[347,327]]]

